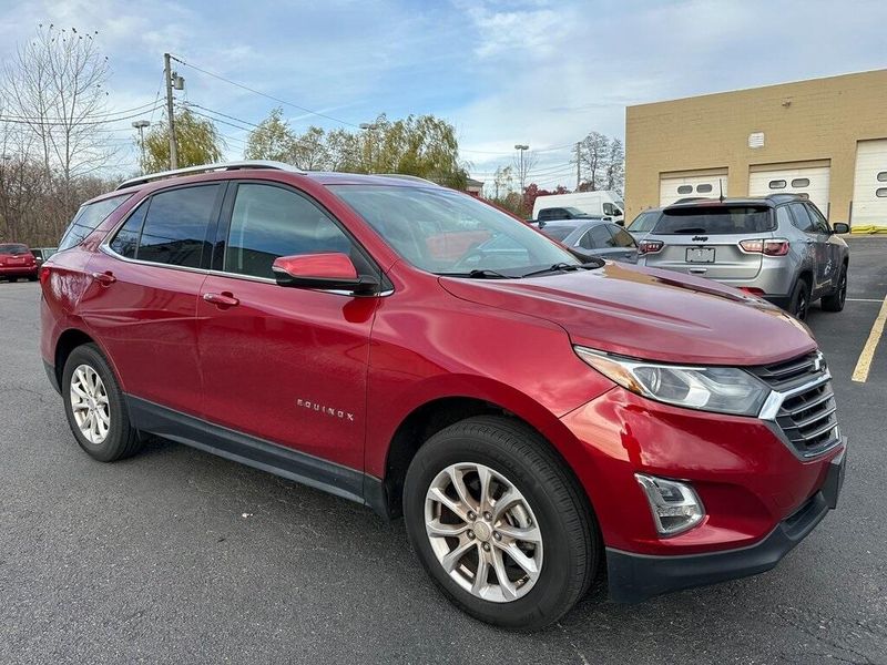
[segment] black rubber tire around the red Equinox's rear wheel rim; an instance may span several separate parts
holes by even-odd
[[[92,442],[77,423],[74,409],[71,403],[71,381],[78,367],[85,365],[91,368],[102,380],[108,397],[108,412],[110,424],[103,441]],[[111,370],[111,366],[94,344],[86,344],[77,347],[68,357],[62,372],[62,400],[64,401],[64,413],[68,417],[68,424],[80,447],[92,458],[101,462],[113,462],[139,452],[142,447],[139,432],[130,424],[130,417],[126,411],[126,402],[118,385],[116,377]]]

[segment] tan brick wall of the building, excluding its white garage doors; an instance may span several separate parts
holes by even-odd
[[[764,132],[763,147],[748,135]],[[762,164],[827,161],[829,217],[849,218],[857,141],[887,137],[887,70],[629,106],[625,204],[659,205],[660,175],[727,168],[731,196]]]

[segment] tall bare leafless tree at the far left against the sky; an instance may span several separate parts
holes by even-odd
[[[108,58],[93,33],[40,24],[3,66],[6,112],[34,136],[43,167],[58,177],[70,206],[72,182],[106,165]]]

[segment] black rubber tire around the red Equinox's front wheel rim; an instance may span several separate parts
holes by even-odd
[[[500,473],[537,518],[542,566],[532,586],[517,600],[493,602],[473,595],[443,570],[430,544],[426,494],[441,471],[461,463],[483,464]],[[457,422],[419,449],[407,471],[404,514],[410,544],[443,594],[471,616],[507,630],[534,631],[563,616],[588,591],[602,552],[584,491],[564,463],[534,430],[499,416]]]

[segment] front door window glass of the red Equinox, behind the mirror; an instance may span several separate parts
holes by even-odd
[[[274,259],[295,254],[340,252],[366,272],[351,241],[313,202],[283,187],[244,183],[231,214],[225,270],[274,278]],[[365,262],[364,262],[365,263]]]

